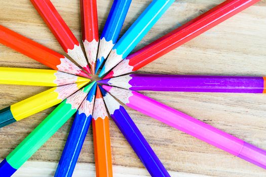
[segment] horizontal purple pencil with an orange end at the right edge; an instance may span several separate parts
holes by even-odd
[[[98,82],[131,91],[266,93],[266,77],[129,74]]]

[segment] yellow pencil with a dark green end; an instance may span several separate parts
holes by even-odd
[[[61,103],[88,82],[57,86],[0,110],[0,127]]]

